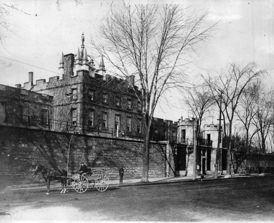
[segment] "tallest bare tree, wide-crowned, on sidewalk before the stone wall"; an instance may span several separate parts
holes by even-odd
[[[180,5],[124,5],[104,19],[91,43],[111,64],[112,73],[128,80],[142,105],[144,148],[142,182],[148,182],[150,126],[161,96],[184,85],[184,61],[199,42],[206,42],[214,25],[206,14],[187,14]],[[109,71],[110,72],[110,71]],[[130,81],[132,75],[140,91]]]

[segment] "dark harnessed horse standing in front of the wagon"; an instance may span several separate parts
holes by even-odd
[[[37,165],[35,168],[34,174],[36,175],[37,173],[41,172],[44,180],[46,181],[47,184],[47,193],[49,194],[49,187],[50,187],[50,182],[51,180],[61,180],[61,185],[62,185],[62,190],[61,193],[65,193],[67,191],[67,170],[63,169],[58,169],[58,170],[51,170],[49,168],[46,168],[40,164]]]

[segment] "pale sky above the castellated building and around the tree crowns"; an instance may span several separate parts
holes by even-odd
[[[214,37],[193,53],[193,63],[186,70],[189,77],[221,71],[232,62],[244,65],[254,61],[269,72],[269,83],[273,83],[274,1],[125,1],[132,4],[183,3],[190,7],[189,11],[207,12],[206,23],[219,21]],[[121,7],[122,1],[9,0],[5,4],[20,10],[5,6],[9,9],[5,19],[13,32],[0,27],[5,36],[0,44],[0,84],[15,87],[28,82],[31,71],[34,83],[61,75],[58,67],[62,52],[75,54],[81,45],[82,33],[87,52],[92,54],[88,39],[97,33],[101,19],[110,13],[110,8]],[[160,101],[154,116],[177,121],[181,116],[192,116],[185,110],[182,95],[172,94],[168,101]]]

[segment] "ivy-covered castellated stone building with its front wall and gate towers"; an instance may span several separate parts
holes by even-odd
[[[76,54],[62,53],[59,69],[63,75],[48,82],[40,79],[34,83],[33,72],[29,72],[23,86],[0,85],[1,177],[32,182],[38,163],[66,168],[65,148],[70,146],[72,171],[78,170],[83,161],[88,167],[104,168],[110,179],[119,179],[118,166],[123,165],[124,178],[140,178],[142,105],[136,97],[141,92],[134,75],[127,80],[108,75],[103,57],[96,68],[84,42]],[[150,178],[192,174],[196,128],[189,118],[154,118]],[[202,126],[197,174],[214,173],[217,138],[217,125]],[[221,148],[218,172],[224,174],[225,168],[226,149]],[[11,177],[11,173],[17,176]]]

